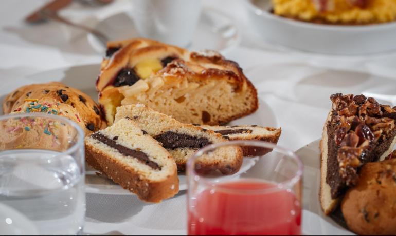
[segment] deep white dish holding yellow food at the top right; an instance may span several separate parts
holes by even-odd
[[[271,0],[245,2],[250,23],[270,43],[303,51],[338,55],[396,50],[396,22],[363,26],[314,24],[272,14],[269,12],[272,8]]]

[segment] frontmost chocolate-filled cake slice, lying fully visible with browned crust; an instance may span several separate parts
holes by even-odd
[[[176,164],[169,152],[129,119],[85,138],[86,161],[146,202],[178,192]]]

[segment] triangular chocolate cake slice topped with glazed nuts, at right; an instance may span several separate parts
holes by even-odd
[[[337,93],[330,99],[333,107],[320,142],[320,203],[325,214],[356,185],[362,165],[384,160],[396,143],[395,108],[364,95]]]

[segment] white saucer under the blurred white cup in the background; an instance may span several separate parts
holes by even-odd
[[[132,18],[127,13],[118,13],[100,21],[95,27],[103,32],[110,41],[139,37]],[[232,18],[214,9],[204,8],[196,27],[190,50],[211,49],[226,53],[241,41],[236,24]],[[106,50],[95,36],[87,34],[88,42],[99,53]]]

